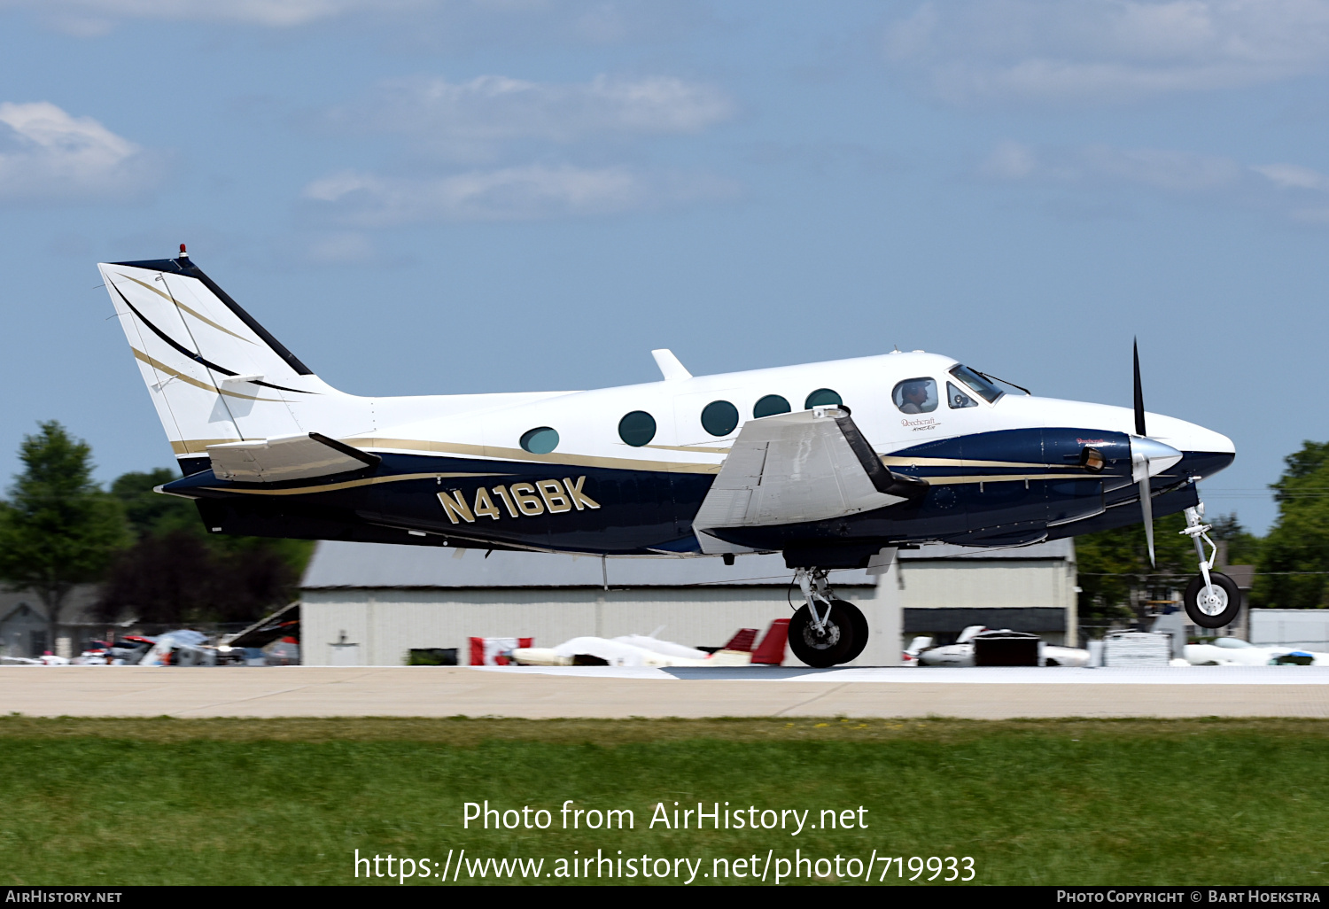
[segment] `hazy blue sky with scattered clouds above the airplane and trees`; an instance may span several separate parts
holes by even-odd
[[[0,476],[170,449],[97,262],[194,262],[332,385],[901,350],[1329,439],[1329,1],[0,0]]]

